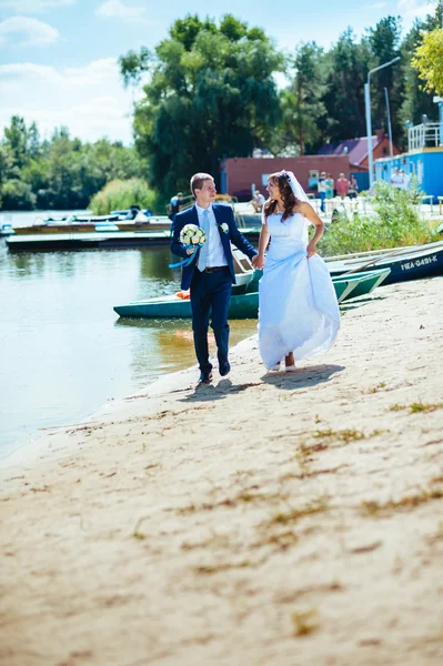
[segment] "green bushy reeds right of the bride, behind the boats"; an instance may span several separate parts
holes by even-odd
[[[373,200],[373,215],[341,214],[321,240],[323,256],[365,252],[429,243],[432,231],[419,214],[419,191],[414,183],[410,190],[400,190],[377,181]]]

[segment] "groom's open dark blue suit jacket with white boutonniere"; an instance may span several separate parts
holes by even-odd
[[[232,259],[231,243],[235,245],[239,250],[241,250],[246,256],[252,259],[256,254],[256,250],[251,245],[251,243],[244,238],[242,233],[236,228],[234,221],[234,214],[230,205],[223,204],[212,204],[212,210],[215,215],[218,229],[220,232],[221,242],[224,250],[224,255],[226,258],[228,268],[231,271],[232,283],[235,284],[235,271],[234,271],[234,262]],[[222,224],[228,224],[228,232],[225,233],[222,229]],[[171,251],[177,256],[181,256],[183,259],[189,258],[190,255],[187,252],[185,246],[180,242],[180,232],[185,224],[199,224],[199,214],[197,212],[197,208],[193,205],[191,209],[183,211],[182,213],[178,213],[172,223],[172,240],[171,240]],[[191,286],[192,276],[195,271],[195,266],[199,261],[200,248],[195,252],[195,258],[188,266],[183,266],[182,276],[181,276],[181,287],[189,289]]]

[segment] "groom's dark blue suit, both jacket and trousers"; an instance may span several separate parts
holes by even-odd
[[[229,325],[228,309],[231,297],[231,286],[235,284],[231,243],[252,259],[256,250],[246,241],[236,228],[231,206],[212,204],[228,266],[214,272],[200,272],[197,268],[200,249],[190,265],[183,268],[181,287],[191,289],[192,330],[194,334],[195,354],[201,372],[209,373],[212,365],[209,362],[208,326],[212,311],[211,327],[213,329],[219,363],[228,362]],[[185,224],[199,224],[195,206],[178,213],[172,224],[171,250],[173,254],[189,258],[187,249],[180,242],[180,232]],[[228,232],[221,225],[228,224]]]

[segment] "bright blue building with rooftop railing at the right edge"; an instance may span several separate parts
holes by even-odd
[[[439,122],[414,125],[409,129],[407,143],[406,153],[375,160],[375,179],[390,183],[395,168],[403,169],[436,202],[437,196],[443,196],[443,125]]]

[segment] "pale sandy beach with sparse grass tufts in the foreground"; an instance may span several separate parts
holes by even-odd
[[[3,461],[0,664],[441,666],[443,278],[342,315]]]

